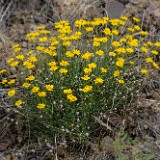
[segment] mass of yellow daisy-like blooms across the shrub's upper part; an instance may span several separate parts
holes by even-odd
[[[109,83],[110,87],[115,84],[124,87],[128,83],[126,75],[138,65],[142,76],[150,73],[149,67],[159,70],[154,56],[159,55],[160,42],[140,41],[134,36],[136,32],[142,39],[149,35],[141,29],[140,19],[133,17],[131,26],[127,21],[125,16],[120,19],[94,18],[92,21],[79,19],[72,26],[63,20],[53,24],[54,36],[45,26],[37,26],[26,36],[29,43],[35,43],[35,48],[23,52],[20,45],[15,44],[12,46],[15,56],[7,60],[12,71],[21,73],[17,76],[21,78],[20,82],[18,78],[2,77],[0,84],[13,87],[18,82],[28,94],[37,97],[36,107],[43,109],[49,106],[48,99],[57,94],[59,99],[65,95],[67,101],[76,103],[82,94],[86,96],[84,93],[91,92],[94,95],[96,88],[103,89]],[[119,36],[122,28],[124,35]],[[138,64],[139,58],[145,64],[143,67]],[[0,76],[7,75],[7,71],[0,69]],[[74,88],[78,98],[70,88]],[[8,96],[17,96],[16,93],[11,89]],[[21,106],[23,100],[16,98],[14,103]]]

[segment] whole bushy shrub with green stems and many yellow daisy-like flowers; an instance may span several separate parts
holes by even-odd
[[[132,23],[130,23],[132,22]],[[1,85],[31,133],[67,135],[82,142],[96,128],[92,115],[121,109],[153,69],[160,42],[148,40],[133,17],[38,26],[27,34],[28,50],[14,45]],[[130,26],[129,26],[130,25]],[[4,78],[11,72],[14,79]]]

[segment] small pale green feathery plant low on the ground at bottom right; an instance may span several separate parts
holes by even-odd
[[[123,130],[120,130],[119,136],[113,142],[114,155],[118,160],[152,160],[156,158],[156,151],[149,139],[140,142],[138,139],[132,139]]]

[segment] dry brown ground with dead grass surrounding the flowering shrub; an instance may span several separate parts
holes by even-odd
[[[5,65],[4,59],[11,54],[12,44],[22,43],[22,47],[27,48],[25,34],[36,25],[43,24],[46,28],[52,29],[52,23],[62,19],[73,22],[81,17],[92,19],[102,16],[117,18],[120,15],[134,15],[142,20],[141,27],[149,30],[152,40],[160,41],[160,0],[14,2],[11,3],[11,8],[14,9],[7,10],[6,15],[0,12],[0,68]],[[5,1],[2,0],[0,4],[3,6]],[[153,158],[147,157],[149,160],[160,160],[160,73],[155,73],[146,86],[142,86],[137,98],[123,113],[106,113],[115,129],[114,136],[108,134],[104,126],[100,126],[105,136],[97,137],[87,146],[81,147],[70,146],[65,139],[56,144],[30,139],[16,113],[10,112],[4,94],[5,91],[0,88],[0,160],[116,160],[116,149],[113,147],[116,139],[120,139],[121,145],[130,145],[124,153],[128,157],[128,154],[135,150],[135,146],[126,142],[123,134],[119,135],[116,126],[123,128],[131,138],[138,138],[138,150],[144,154],[148,153],[148,157],[153,154]],[[103,121],[105,123],[105,119]]]

